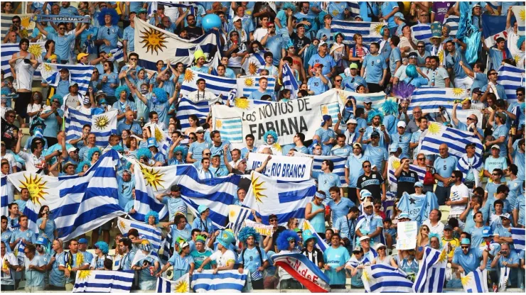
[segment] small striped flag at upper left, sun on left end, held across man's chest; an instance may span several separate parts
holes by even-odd
[[[60,80],[60,69],[68,69],[70,71],[70,82],[77,82],[78,91],[82,95],[86,95],[87,87],[93,74],[92,65],[60,65],[43,63],[41,74],[45,81],[49,82],[51,86],[57,87]]]

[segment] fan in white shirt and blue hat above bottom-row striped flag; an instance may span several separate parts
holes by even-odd
[[[197,272],[202,272],[203,267],[213,260],[218,264],[218,267],[214,269],[214,274],[217,274],[219,270],[234,269],[235,254],[229,249],[230,245],[235,242],[234,233],[232,230],[222,230],[216,239],[218,240],[218,250],[203,261]]]

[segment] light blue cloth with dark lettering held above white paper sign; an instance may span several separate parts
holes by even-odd
[[[436,196],[431,191],[423,196],[409,196],[406,192],[398,202],[398,210],[409,214],[412,221],[422,223],[429,218],[429,212],[439,208]]]

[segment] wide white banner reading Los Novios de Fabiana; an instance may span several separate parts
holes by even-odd
[[[245,136],[252,134],[256,142],[263,143],[267,130],[275,130],[278,143],[294,143],[296,133],[304,133],[306,139],[313,138],[320,128],[323,115],[333,117],[336,124],[340,112],[340,98],[335,89],[304,99],[253,108],[212,106],[214,129],[219,130],[222,140],[228,140],[234,148],[245,147]]]

